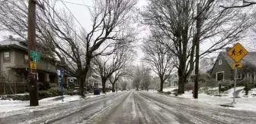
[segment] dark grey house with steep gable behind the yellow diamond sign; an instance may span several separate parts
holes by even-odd
[[[234,80],[235,77],[235,70],[232,69],[231,65],[234,63],[231,57],[227,54],[227,51],[219,52],[218,57],[216,58],[215,64],[213,69],[211,70],[210,74],[213,78],[216,78],[216,81],[221,80]],[[247,65],[256,66],[256,52],[250,51],[243,59],[242,64],[244,68],[238,69],[237,79],[250,79],[251,82],[256,81],[255,71],[248,71],[245,70]]]

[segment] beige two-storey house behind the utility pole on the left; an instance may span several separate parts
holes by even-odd
[[[28,62],[27,46],[22,42],[11,38],[0,42],[0,74],[13,70],[26,80]],[[54,60],[40,58],[37,63],[37,80],[38,82],[58,82]]]

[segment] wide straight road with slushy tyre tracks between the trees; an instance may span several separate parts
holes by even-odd
[[[255,123],[256,113],[230,110],[146,91],[62,104],[0,118],[0,123]]]

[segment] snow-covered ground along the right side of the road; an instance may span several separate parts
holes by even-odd
[[[235,91],[237,90],[242,90],[243,87],[237,87],[235,89]],[[255,89],[253,89],[254,92],[256,91]],[[199,94],[198,95],[198,99],[194,99],[193,98],[193,94],[192,91],[185,91],[184,95],[178,95],[178,98],[187,98],[193,101],[201,101],[204,102],[206,104],[213,104],[213,105],[220,105],[220,104],[230,104],[234,107],[232,107],[231,109],[238,109],[238,110],[253,110],[256,111],[256,97],[254,98],[243,98],[242,93],[240,92],[238,94],[238,96],[240,96],[241,98],[235,98],[235,103],[236,104],[231,104],[233,101],[233,92],[234,92],[234,88],[231,88],[228,90],[228,95],[224,96],[224,97],[217,97],[217,96],[210,96],[210,95],[206,95],[206,94]]]

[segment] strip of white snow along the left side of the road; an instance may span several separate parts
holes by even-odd
[[[96,98],[96,97],[104,97],[105,95],[111,95],[114,92],[107,92],[106,94],[101,95],[93,95],[88,94],[85,99],[87,98]],[[29,107],[30,101],[9,101],[9,100],[0,100],[0,113],[8,113],[14,110],[24,110],[24,109],[44,109],[49,106],[54,106],[57,104],[64,104],[72,101],[80,101],[81,98],[79,95],[64,95],[64,99],[62,101],[61,96],[53,97],[53,98],[44,98],[39,101],[39,106],[37,107]]]

